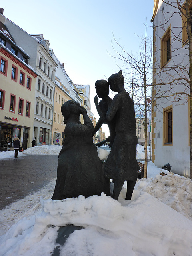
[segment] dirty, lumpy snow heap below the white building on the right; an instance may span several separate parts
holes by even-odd
[[[159,174],[138,180],[135,189],[147,192],[192,221],[192,180],[189,178],[168,172],[166,176]]]

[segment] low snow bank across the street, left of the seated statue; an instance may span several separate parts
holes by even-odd
[[[27,148],[23,151],[26,155],[58,155],[61,151],[62,146],[58,145],[43,145],[37,147]]]

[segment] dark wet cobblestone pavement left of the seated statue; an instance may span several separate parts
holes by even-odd
[[[40,190],[57,176],[58,156],[18,154],[0,159],[0,210]]]

